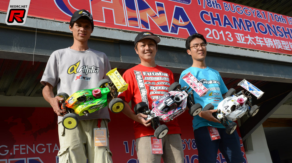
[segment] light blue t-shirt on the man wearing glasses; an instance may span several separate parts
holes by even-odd
[[[191,72],[192,75],[194,75],[207,89],[209,89],[208,93],[202,97],[199,97],[199,95],[193,91],[195,103],[200,103],[203,108],[207,104],[211,103],[214,105],[214,109],[217,109],[219,102],[223,100],[222,94],[228,91],[219,72],[209,67],[204,69],[196,67],[187,68],[180,75],[179,83],[182,87],[183,86],[189,87],[189,85],[182,79],[182,77],[188,72]],[[225,128],[220,123],[210,122],[204,118],[201,118],[200,116],[194,116],[193,119],[194,130],[203,126]]]

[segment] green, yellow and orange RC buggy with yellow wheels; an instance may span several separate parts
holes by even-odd
[[[125,91],[128,84],[121,77],[117,68],[109,71],[107,75],[112,82],[108,79],[102,79],[98,82],[97,88],[83,89],[71,96],[64,92],[56,95],[64,99],[59,103],[63,111],[62,115],[64,115],[62,125],[66,129],[76,128],[79,122],[78,115],[92,113],[107,106],[107,100],[110,100],[109,109],[113,113],[119,113],[124,109],[124,101],[117,98],[117,92]]]

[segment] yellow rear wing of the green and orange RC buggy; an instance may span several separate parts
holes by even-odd
[[[107,72],[107,76],[109,76],[109,78],[112,80],[112,83],[114,83],[114,85],[117,87],[118,92],[124,92],[128,89],[128,84],[117,71],[117,68],[114,68]]]

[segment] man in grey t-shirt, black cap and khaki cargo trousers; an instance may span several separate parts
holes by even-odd
[[[112,162],[109,150],[107,123],[109,111],[102,108],[91,114],[79,117],[79,124],[73,130],[62,126],[62,110],[54,97],[53,87],[57,92],[72,95],[81,89],[95,88],[98,81],[108,79],[106,73],[111,70],[105,53],[90,49],[88,39],[93,31],[92,15],[86,10],[78,10],[72,15],[69,30],[72,31],[74,42],[71,47],[53,52],[48,60],[41,79],[44,99],[51,104],[58,115],[58,132],[60,151],[59,163],[104,163]],[[96,146],[94,141],[95,128],[103,129],[107,134],[107,145]]]

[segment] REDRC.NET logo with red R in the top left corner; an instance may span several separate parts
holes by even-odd
[[[7,25],[23,25],[25,24],[30,0],[10,0],[5,23]]]

